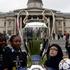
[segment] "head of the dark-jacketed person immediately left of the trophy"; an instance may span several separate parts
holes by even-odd
[[[12,35],[10,38],[10,44],[14,48],[20,48],[21,46],[21,38],[18,35]]]

